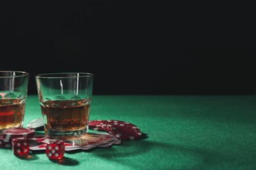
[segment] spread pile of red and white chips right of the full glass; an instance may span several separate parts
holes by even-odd
[[[121,120],[92,120],[89,122],[89,129],[104,130],[112,135],[115,135],[121,140],[135,140],[142,133],[139,127],[135,124]]]

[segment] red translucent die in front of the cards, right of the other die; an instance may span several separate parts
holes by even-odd
[[[46,154],[51,160],[60,160],[64,157],[65,143],[64,141],[52,141],[47,143]]]

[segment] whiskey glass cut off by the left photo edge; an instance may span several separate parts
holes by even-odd
[[[28,95],[29,73],[0,71],[0,133],[23,127]]]

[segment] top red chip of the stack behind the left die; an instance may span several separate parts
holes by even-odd
[[[3,131],[3,138],[11,140],[14,137],[28,137],[32,138],[35,136],[35,129],[31,128],[11,128]]]

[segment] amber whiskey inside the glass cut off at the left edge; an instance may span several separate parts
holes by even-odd
[[[26,101],[0,99],[0,132],[11,127],[23,127]]]

